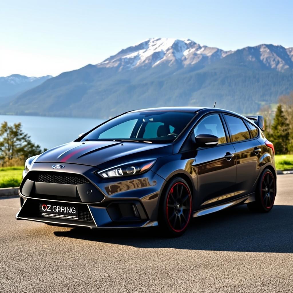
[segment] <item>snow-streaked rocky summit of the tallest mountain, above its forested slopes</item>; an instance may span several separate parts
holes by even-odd
[[[190,39],[152,38],[121,50],[96,66],[118,67],[119,70],[123,70],[155,67],[163,63],[170,66],[175,63],[188,66],[202,62],[205,65],[233,52],[202,46]]]

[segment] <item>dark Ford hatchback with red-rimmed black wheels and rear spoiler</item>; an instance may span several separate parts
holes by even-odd
[[[263,130],[262,116],[217,108],[123,113],[27,159],[16,219],[176,237],[234,205],[269,212],[277,178]]]

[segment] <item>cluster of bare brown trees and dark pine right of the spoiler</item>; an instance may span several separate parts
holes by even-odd
[[[293,91],[279,98],[275,113],[270,106],[260,109],[265,120],[265,137],[274,144],[275,154],[293,152]]]

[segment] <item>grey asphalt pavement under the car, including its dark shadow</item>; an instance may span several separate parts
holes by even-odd
[[[293,292],[293,175],[277,188],[270,213],[234,207],[176,239],[16,221],[1,199],[0,292]]]

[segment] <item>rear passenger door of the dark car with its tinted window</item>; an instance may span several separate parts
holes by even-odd
[[[223,115],[229,129],[230,139],[236,151],[237,176],[235,195],[241,197],[253,190],[260,171],[262,146],[258,142],[258,128],[241,117]]]

